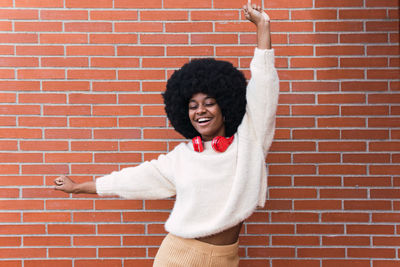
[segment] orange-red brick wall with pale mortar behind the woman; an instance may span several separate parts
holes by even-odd
[[[196,57],[249,77],[239,0],[0,1],[0,266],[151,266],[173,200],[72,196],[182,141],[160,92]],[[269,200],[240,266],[400,265],[397,0],[268,0],[281,79]]]

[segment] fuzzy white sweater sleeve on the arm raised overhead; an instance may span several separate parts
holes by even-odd
[[[247,87],[247,113],[254,127],[255,138],[266,154],[275,131],[279,77],[275,69],[273,49],[256,48],[250,63],[251,79]]]

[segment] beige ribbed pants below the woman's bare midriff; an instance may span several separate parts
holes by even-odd
[[[168,234],[153,267],[237,267],[239,241],[226,246],[207,244]]]

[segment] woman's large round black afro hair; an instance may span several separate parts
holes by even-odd
[[[200,134],[189,119],[189,100],[197,93],[215,98],[225,118],[226,136],[236,133],[246,111],[246,78],[227,61],[195,59],[176,70],[163,93],[172,126],[185,138]]]

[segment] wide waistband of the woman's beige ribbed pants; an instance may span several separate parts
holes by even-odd
[[[170,239],[171,242],[177,245],[187,246],[197,251],[207,253],[211,256],[227,256],[227,255],[237,255],[239,250],[239,241],[230,245],[213,245],[208,244],[192,238],[182,238],[169,233],[166,239]]]

